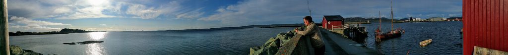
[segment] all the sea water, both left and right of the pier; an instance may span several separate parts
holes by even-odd
[[[384,54],[462,54],[460,28],[462,22],[415,22],[395,23],[405,29],[400,38],[382,43],[374,42],[374,29],[378,23],[367,26],[367,47]],[[390,23],[383,23],[388,31]],[[195,32],[94,32],[58,35],[11,36],[10,44],[43,54],[248,54],[249,47],[260,46],[270,37],[294,28],[249,28],[238,30],[195,31]],[[420,47],[422,40],[433,42]],[[103,43],[67,45],[62,43],[88,40]]]

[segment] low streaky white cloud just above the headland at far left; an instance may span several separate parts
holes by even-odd
[[[32,20],[24,17],[11,17],[12,22],[21,23],[25,25],[12,25],[12,28],[21,28],[21,29],[44,29],[44,30],[59,30],[59,28],[50,28],[47,27],[49,25],[69,25],[71,24],[63,24],[63,23],[55,23],[55,22],[49,22],[49,21],[41,21],[41,20]]]

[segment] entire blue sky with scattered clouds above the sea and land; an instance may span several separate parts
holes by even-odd
[[[9,31],[160,31],[382,17],[390,0],[9,0]],[[462,0],[394,0],[395,19],[461,17]]]

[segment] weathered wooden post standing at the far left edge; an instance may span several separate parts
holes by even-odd
[[[10,55],[7,0],[0,0],[0,55]]]

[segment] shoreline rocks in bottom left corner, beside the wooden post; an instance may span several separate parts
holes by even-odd
[[[42,53],[21,49],[21,47],[14,45],[11,45],[10,49],[12,55],[43,55]]]

